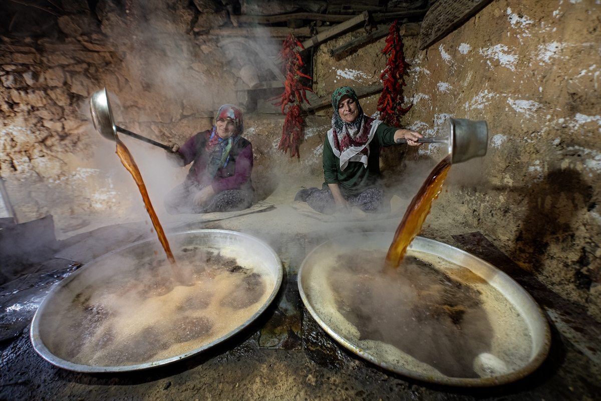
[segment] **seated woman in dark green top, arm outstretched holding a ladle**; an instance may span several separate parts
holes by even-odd
[[[407,139],[410,146],[420,145],[423,136],[408,129],[397,129],[367,117],[359,105],[355,90],[340,87],[332,94],[332,129],[323,144],[322,189],[302,189],[294,200],[306,201],[317,212],[349,213],[352,206],[364,212],[377,212],[384,200],[379,185],[380,146]]]

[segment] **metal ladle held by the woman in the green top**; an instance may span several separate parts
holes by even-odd
[[[486,155],[488,147],[488,124],[466,118],[449,118],[451,132],[443,138],[419,138],[418,142],[448,144],[451,163],[461,163]],[[397,139],[398,144],[406,144],[407,139]]]

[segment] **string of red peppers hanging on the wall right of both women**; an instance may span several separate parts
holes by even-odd
[[[403,87],[406,86],[404,72],[407,67],[403,55],[403,41],[398,32],[398,21],[395,20],[390,26],[390,33],[386,37],[386,46],[382,54],[389,55],[388,63],[380,79],[384,84],[382,95],[377,102],[377,111],[380,112],[380,120],[388,126],[399,127],[400,119],[413,105],[403,108]]]

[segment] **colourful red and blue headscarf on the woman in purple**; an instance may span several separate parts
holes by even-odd
[[[217,120],[221,118],[234,121],[234,135],[230,138],[221,138],[217,133]],[[238,141],[243,132],[242,111],[234,105],[221,106],[215,115],[215,125],[211,130],[209,141],[207,141],[206,150],[209,158],[207,158],[206,176],[213,178],[217,174],[217,170],[227,166],[228,161],[230,161],[231,147]]]

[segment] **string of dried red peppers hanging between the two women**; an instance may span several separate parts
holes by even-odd
[[[301,76],[311,79],[310,76],[301,72],[301,69],[305,64],[302,61],[301,54],[299,54],[299,48],[305,49],[302,43],[296,40],[293,34],[289,34],[284,40],[282,50],[279,52],[279,57],[284,65],[282,69],[285,76],[284,93],[270,99],[279,99],[279,101],[273,103],[273,105],[282,106],[282,114],[286,115],[284,128],[282,129],[282,139],[279,141],[278,150],[283,149],[284,153],[287,153],[288,148],[290,148],[291,158],[294,156],[297,158],[301,157],[299,147],[305,140],[305,135],[303,133],[304,120],[301,117],[301,102],[304,100],[307,104],[310,104],[307,100],[307,96],[305,96],[305,91],[313,92],[311,88],[307,88],[299,82]]]

